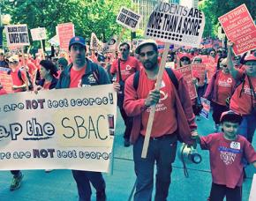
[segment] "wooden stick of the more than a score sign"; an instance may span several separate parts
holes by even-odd
[[[164,44],[162,60],[161,60],[161,64],[160,64],[157,79],[156,79],[155,89],[157,89],[157,90],[159,90],[160,86],[161,86],[162,74],[163,74],[163,71],[165,68],[165,63],[166,63],[166,59],[167,59],[168,52],[169,52],[169,45],[170,45],[169,42],[165,42],[165,44]],[[152,125],[153,125],[153,121],[154,121],[154,112],[155,112],[155,105],[151,106],[150,114],[149,114],[148,121],[147,121],[147,131],[146,131],[146,136],[144,139],[143,149],[142,149],[142,153],[141,153],[141,158],[143,158],[143,159],[147,158],[147,148],[148,148],[149,138],[150,138]]]

